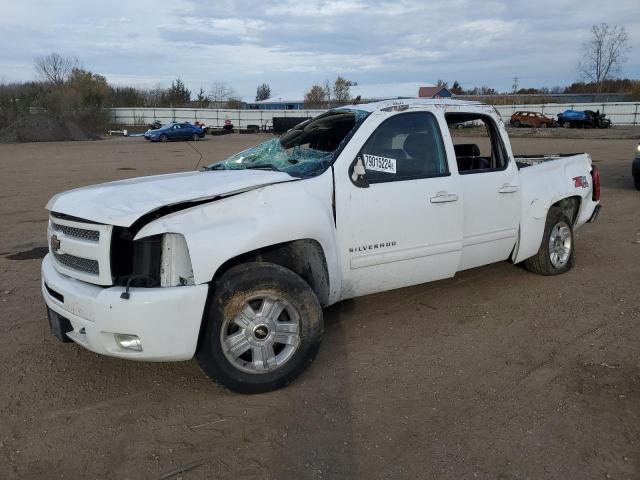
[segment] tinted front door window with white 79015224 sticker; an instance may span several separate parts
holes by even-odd
[[[382,122],[357,162],[370,184],[449,174],[440,127],[428,112],[401,113]]]

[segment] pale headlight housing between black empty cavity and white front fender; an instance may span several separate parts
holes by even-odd
[[[187,241],[179,233],[162,235],[160,286],[195,285]]]

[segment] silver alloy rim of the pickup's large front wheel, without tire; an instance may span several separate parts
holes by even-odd
[[[235,317],[225,319],[220,344],[229,363],[246,373],[272,372],[300,346],[300,315],[286,300],[257,294]]]

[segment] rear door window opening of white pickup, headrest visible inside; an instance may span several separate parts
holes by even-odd
[[[523,112],[528,116],[528,113]],[[482,114],[445,114],[456,152],[456,162],[461,175],[493,172],[507,167],[508,157],[495,121]],[[460,121],[473,121],[478,125],[473,137],[460,135],[453,126]]]

